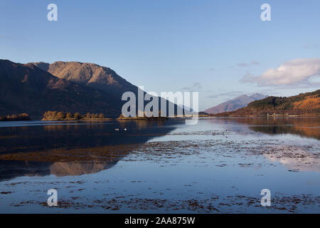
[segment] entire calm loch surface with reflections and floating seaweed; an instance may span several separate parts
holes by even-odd
[[[320,213],[319,148],[320,118],[0,123],[0,212]]]

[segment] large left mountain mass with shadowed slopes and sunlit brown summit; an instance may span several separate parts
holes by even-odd
[[[0,81],[0,115],[28,113],[32,119],[41,119],[47,110],[115,118],[127,102],[122,101],[122,93],[137,96],[140,90],[112,69],[94,63],[0,60]]]

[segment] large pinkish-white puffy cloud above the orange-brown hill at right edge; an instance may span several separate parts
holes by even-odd
[[[261,76],[248,73],[241,81],[257,83],[257,86],[292,86],[309,84],[314,76],[320,76],[320,58],[298,58],[271,68]]]

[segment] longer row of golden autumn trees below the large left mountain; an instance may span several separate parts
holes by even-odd
[[[81,115],[80,113],[65,113],[57,111],[46,111],[43,114],[43,120],[92,120],[92,119],[104,119],[105,115],[100,113],[87,113]]]

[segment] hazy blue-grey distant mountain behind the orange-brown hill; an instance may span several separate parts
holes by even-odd
[[[230,112],[233,110],[237,110],[239,108],[243,108],[254,100],[261,100],[263,98],[267,98],[267,95],[262,95],[260,93],[255,93],[250,96],[240,95],[238,98],[234,98],[224,103],[220,103],[220,105],[216,105],[212,108],[208,108],[207,110],[205,110],[205,113],[217,114],[217,113]]]

